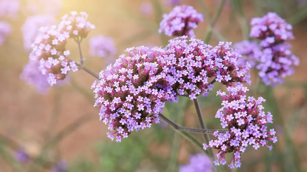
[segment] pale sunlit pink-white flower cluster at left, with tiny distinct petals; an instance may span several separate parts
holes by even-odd
[[[68,58],[70,52],[65,45],[68,38],[81,41],[95,28],[87,21],[87,16],[84,12],[74,11],[64,15],[59,25],[40,29],[44,34],[37,37],[29,58],[40,62],[39,69],[42,74],[48,74],[51,86],[58,80],[64,80],[69,71],[78,71],[76,63]]]

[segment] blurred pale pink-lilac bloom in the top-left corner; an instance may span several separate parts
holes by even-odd
[[[18,0],[0,0],[0,17],[16,19],[20,2]]]

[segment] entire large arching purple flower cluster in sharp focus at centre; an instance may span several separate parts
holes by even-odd
[[[177,95],[187,92],[191,99],[213,88],[213,82],[225,85],[248,82],[248,63],[237,66],[240,54],[231,43],[220,42],[212,47],[187,36],[171,39],[164,48],[132,47],[128,56],[121,55],[110,74],[101,71],[100,81],[94,82],[95,106],[100,107],[100,120],[109,124],[107,133],[121,141],[131,131],[158,123],[158,114],[165,101],[178,102]],[[212,78],[212,83],[208,79]],[[115,135],[115,137],[114,137]]]

